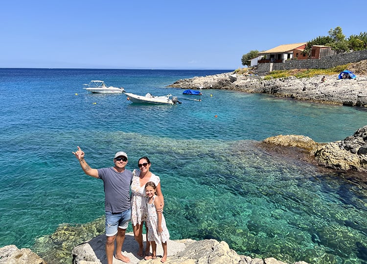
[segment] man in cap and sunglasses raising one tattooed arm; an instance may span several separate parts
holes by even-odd
[[[79,160],[85,174],[103,180],[105,191],[105,211],[106,211],[106,258],[107,263],[112,264],[115,251],[115,258],[129,263],[130,259],[121,254],[122,244],[125,240],[125,232],[131,218],[130,209],[130,184],[133,173],[125,169],[127,154],[117,152],[114,158],[114,167],[91,168],[84,160],[84,152],[77,147],[76,152],[72,152]]]

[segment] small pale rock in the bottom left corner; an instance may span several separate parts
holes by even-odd
[[[46,264],[29,248],[19,249],[15,245],[0,248],[0,264]]]

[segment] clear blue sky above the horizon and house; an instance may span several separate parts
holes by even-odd
[[[4,0],[0,68],[229,69],[250,50],[367,31],[365,0]],[[340,8],[342,6],[342,8]]]

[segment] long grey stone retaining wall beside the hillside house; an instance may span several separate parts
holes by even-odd
[[[275,70],[293,69],[328,69],[351,62],[359,62],[367,59],[367,50],[358,50],[349,53],[325,56],[321,59],[286,60],[284,63],[259,63],[257,72],[265,74]]]

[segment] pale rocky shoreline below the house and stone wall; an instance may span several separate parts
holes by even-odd
[[[245,76],[227,72],[191,79],[180,79],[168,87],[182,89],[223,89],[246,93],[271,94],[303,101],[367,107],[367,75],[338,79],[338,75],[311,78],[294,76],[265,80],[264,76]]]

